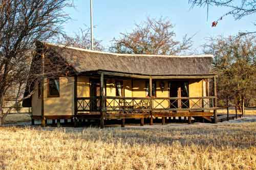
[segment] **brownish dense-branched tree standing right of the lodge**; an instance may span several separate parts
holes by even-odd
[[[218,98],[242,105],[255,99],[256,90],[256,38],[243,37],[210,38],[204,52],[213,54],[213,71],[218,77]]]

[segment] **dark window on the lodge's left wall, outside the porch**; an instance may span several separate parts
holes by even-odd
[[[59,78],[48,79],[48,98],[59,97]]]

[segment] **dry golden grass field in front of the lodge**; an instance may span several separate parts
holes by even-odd
[[[0,169],[256,169],[256,122],[0,131]]]

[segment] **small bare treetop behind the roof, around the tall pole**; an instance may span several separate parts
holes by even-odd
[[[100,40],[94,39],[94,49],[98,51],[104,50],[103,45]],[[91,49],[91,32],[90,28],[79,29],[74,36],[65,36],[62,39],[59,39],[58,44],[73,46],[84,49]]]

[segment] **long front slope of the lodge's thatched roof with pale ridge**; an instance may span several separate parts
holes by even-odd
[[[77,72],[106,70],[141,75],[209,74],[212,55],[163,56],[114,54],[45,43],[47,51],[64,58]]]

